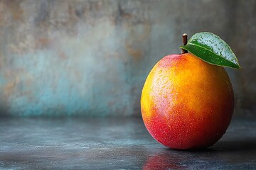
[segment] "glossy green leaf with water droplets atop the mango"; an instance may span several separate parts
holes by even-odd
[[[181,48],[210,64],[241,69],[228,44],[213,33],[196,33]]]

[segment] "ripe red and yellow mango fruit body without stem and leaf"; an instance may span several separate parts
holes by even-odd
[[[191,53],[162,58],[142,89],[147,130],[174,149],[213,145],[227,130],[233,108],[233,88],[225,69]]]

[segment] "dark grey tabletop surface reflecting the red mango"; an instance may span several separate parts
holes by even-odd
[[[142,118],[1,118],[0,169],[256,169],[256,119],[213,147],[168,149]]]

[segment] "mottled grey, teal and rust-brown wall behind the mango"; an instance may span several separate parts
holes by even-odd
[[[182,33],[210,31],[243,70],[227,69],[235,114],[256,111],[256,1],[0,1],[1,115],[140,115],[151,67]]]

